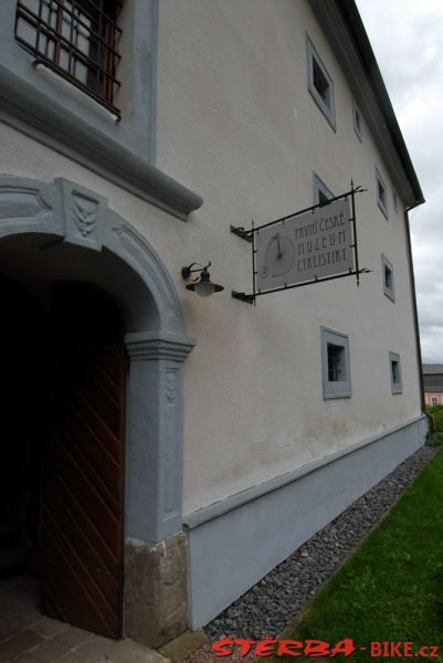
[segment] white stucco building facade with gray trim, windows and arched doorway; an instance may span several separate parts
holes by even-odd
[[[46,613],[157,646],[423,443],[423,197],[350,0],[0,18],[1,540],[39,552]],[[359,285],[231,296],[252,288],[231,225],[351,180]],[[209,262],[203,298],[182,267]]]

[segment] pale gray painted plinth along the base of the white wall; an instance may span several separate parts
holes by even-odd
[[[189,523],[191,628],[217,617],[424,442],[420,418],[267,492],[244,492],[184,517]],[[271,482],[270,482],[271,483]],[[204,513],[208,512],[208,513]],[[217,515],[217,512],[220,515]],[[200,520],[200,523],[199,523]]]

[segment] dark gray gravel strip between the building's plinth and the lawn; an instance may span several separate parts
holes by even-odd
[[[435,449],[422,446],[204,627],[210,642],[276,636],[401,495]],[[200,650],[199,650],[200,652]],[[210,660],[196,652],[187,661]],[[208,646],[204,652],[209,652]],[[203,654],[203,656],[201,655]],[[244,661],[244,659],[243,659]]]

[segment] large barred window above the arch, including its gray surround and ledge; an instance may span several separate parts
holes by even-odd
[[[66,1],[72,7],[75,4],[77,13],[86,15],[85,1]],[[187,196],[191,193],[191,199],[194,199],[194,194],[183,187],[177,189],[178,182],[154,167],[159,2],[91,0],[91,6],[95,4],[97,8],[102,1],[105,15],[109,15],[112,6],[116,8],[113,15],[116,15],[115,23],[122,29],[122,32],[115,29],[115,50],[119,51],[123,57],[118,65],[116,63],[114,74],[119,78],[122,86],[115,84],[112,106],[102,97],[94,96],[93,91],[82,81],[77,82],[68,72],[55,70],[55,64],[52,69],[56,74],[49,71],[52,65],[48,61],[46,66],[32,66],[35,60],[43,61],[42,55],[34,53],[36,49],[42,51],[39,35],[44,36],[46,41],[59,40],[65,44],[63,40],[55,39],[51,24],[51,30],[46,28],[48,34],[43,34],[42,30],[43,10],[50,19],[51,8],[53,11],[55,6],[68,9],[62,0],[53,0],[52,4],[50,0],[1,0],[1,109],[8,113],[8,122],[14,129],[25,133],[39,143],[50,145],[55,151],[82,164],[143,200],[155,200],[169,211],[172,207],[172,213],[186,218],[189,213]],[[42,15],[38,21],[40,9]],[[68,11],[65,13],[70,14]],[[60,15],[63,18],[63,12],[59,13]],[[73,33],[75,25],[81,21],[81,17],[78,20],[71,17]],[[103,24],[113,28],[113,23],[106,19]],[[21,41],[17,36],[18,30]],[[84,27],[78,25],[78,32],[81,30],[84,30]],[[81,39],[85,36],[87,38],[87,33],[78,35],[78,51],[85,45]],[[51,55],[50,46],[48,55]],[[81,54],[72,50],[72,56],[82,64]],[[72,62],[71,66],[74,65],[75,62]],[[76,69],[78,70],[78,66]],[[78,71],[76,73],[78,74]],[[118,117],[116,106],[122,114],[118,125],[113,122]],[[173,191],[180,193],[176,196]]]

